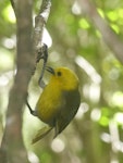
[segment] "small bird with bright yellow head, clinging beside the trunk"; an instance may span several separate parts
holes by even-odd
[[[30,113],[49,127],[41,129],[33,142],[41,139],[53,127],[54,137],[58,136],[73,120],[81,103],[78,78],[75,73],[66,67],[47,67],[47,71],[51,73],[51,78],[37,101],[36,110],[33,111],[28,103],[27,105]]]

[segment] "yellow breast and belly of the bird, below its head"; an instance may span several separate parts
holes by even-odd
[[[42,122],[53,126],[54,120],[63,103],[62,91],[53,87],[46,87],[36,105],[38,117]]]

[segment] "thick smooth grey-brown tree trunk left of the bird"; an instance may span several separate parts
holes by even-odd
[[[22,137],[22,117],[27,86],[35,61],[32,42],[32,8],[33,2],[30,0],[19,0],[16,2],[17,71],[9,98],[7,123],[0,148],[1,163],[28,163]]]

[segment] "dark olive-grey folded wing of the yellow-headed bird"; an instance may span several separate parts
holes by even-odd
[[[70,124],[70,122],[75,116],[81,103],[81,96],[78,90],[64,91],[63,97],[65,99],[65,102],[60,109],[60,112],[56,120],[54,137]]]

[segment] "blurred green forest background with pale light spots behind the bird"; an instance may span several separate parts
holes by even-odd
[[[123,41],[123,1],[96,0],[95,4]],[[40,0],[36,0],[34,16],[39,5]],[[0,1],[0,11],[1,141],[9,91],[16,71],[16,26],[8,0]],[[50,133],[34,146],[32,139],[45,124],[25,108],[22,130],[32,163],[123,162],[123,66],[90,20],[82,13],[77,1],[52,0],[42,39],[49,47],[48,65],[67,66],[77,74],[82,103],[74,121],[60,136],[52,140]],[[41,65],[40,61],[28,88],[32,108],[42,91],[37,84]],[[45,73],[45,83],[49,77]]]

